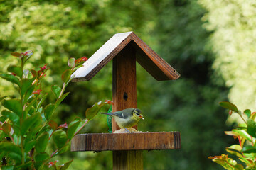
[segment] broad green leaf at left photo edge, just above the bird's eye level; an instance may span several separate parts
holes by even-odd
[[[18,99],[10,99],[10,100],[4,100],[2,101],[2,105],[9,109],[10,111],[13,111],[21,118],[22,115],[22,105],[21,101]]]

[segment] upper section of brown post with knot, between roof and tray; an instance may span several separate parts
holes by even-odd
[[[127,45],[113,59],[113,112],[124,108],[137,108],[136,90],[136,58],[135,50]],[[119,130],[117,123],[112,119],[112,132]]]

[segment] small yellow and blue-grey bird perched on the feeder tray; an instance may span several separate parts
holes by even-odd
[[[126,108],[122,111],[116,111],[112,113],[102,113],[105,115],[111,115],[112,118],[116,121],[117,125],[119,125],[120,128],[124,128],[127,130],[127,128],[130,128],[134,125],[137,125],[139,120],[144,120],[144,117],[142,115],[142,111],[139,110],[139,108]],[[127,132],[130,132],[127,130]]]

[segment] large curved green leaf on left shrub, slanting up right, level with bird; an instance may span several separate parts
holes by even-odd
[[[41,122],[41,119],[42,118],[40,113],[33,114],[26,118],[21,125],[21,135],[25,135],[28,129],[31,128],[31,125],[36,122]]]

